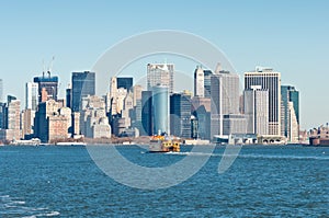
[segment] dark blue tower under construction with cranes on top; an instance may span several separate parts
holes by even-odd
[[[58,77],[52,77],[50,72],[48,72],[48,77],[43,73],[41,77],[35,77],[33,82],[37,83],[38,87],[38,102],[45,102],[50,99],[57,101]]]

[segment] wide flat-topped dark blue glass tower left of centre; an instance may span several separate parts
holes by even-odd
[[[72,72],[71,110],[79,112],[82,110],[82,97],[95,94],[95,73],[90,71]]]

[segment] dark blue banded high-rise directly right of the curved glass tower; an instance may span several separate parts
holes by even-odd
[[[173,136],[191,137],[191,96],[174,93],[170,96],[170,131]]]

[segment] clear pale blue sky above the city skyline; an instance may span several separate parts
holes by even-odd
[[[0,78],[24,104],[43,59],[55,55],[64,90],[72,71],[91,69],[118,41],[179,30],[211,41],[240,74],[257,65],[281,71],[300,91],[302,127],[310,128],[329,122],[328,9],[326,0],[1,1]]]

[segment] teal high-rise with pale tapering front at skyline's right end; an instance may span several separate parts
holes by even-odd
[[[292,85],[281,85],[281,135],[287,141],[299,139],[299,92]]]

